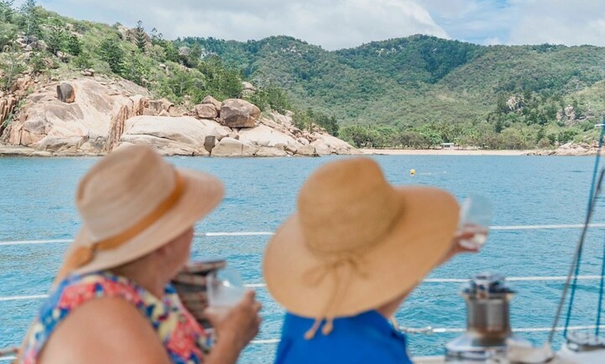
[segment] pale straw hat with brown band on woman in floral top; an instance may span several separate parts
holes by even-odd
[[[223,198],[216,177],[176,169],[150,147],[118,149],[81,179],[83,226],[59,279],[117,267],[177,238]]]

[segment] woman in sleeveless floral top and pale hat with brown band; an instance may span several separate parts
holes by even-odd
[[[235,363],[256,335],[254,292],[227,318],[218,340],[182,306],[170,279],[189,257],[193,226],[215,208],[223,185],[176,169],[149,147],[103,158],[79,183],[83,226],[31,327],[22,363]]]

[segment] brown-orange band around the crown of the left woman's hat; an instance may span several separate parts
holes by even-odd
[[[131,240],[136,235],[152,226],[152,224],[159,220],[160,217],[166,215],[166,213],[168,213],[168,211],[170,211],[170,209],[177,204],[185,190],[185,179],[183,176],[181,176],[181,174],[179,174],[177,169],[173,170],[175,173],[175,188],[172,189],[172,192],[170,192],[170,194],[163,199],[163,201],[161,201],[151,213],[149,213],[149,215],[146,215],[143,217],[143,219],[139,220],[136,224],[130,226],[128,229],[122,231],[118,235],[113,235],[110,238],[100,240],[92,245],[81,245],[76,247],[76,249],[72,251],[67,258],[65,258],[65,263],[63,263],[63,266],[59,270],[55,283],[62,281],[65,276],[70,274],[70,272],[73,270],[90,263],[92,259],[95,258],[96,251],[111,250],[120,247],[125,242]]]

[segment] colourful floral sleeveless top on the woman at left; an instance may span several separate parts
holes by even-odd
[[[153,326],[172,363],[202,363],[209,336],[181,304],[175,289],[169,284],[164,297],[158,299],[111,272],[68,276],[51,292],[30,330],[22,363],[36,363],[56,326],[82,304],[101,297],[121,297],[135,306]]]

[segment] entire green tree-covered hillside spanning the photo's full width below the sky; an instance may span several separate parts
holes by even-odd
[[[188,108],[207,94],[294,111],[359,147],[551,148],[594,140],[605,114],[605,48],[480,46],[413,35],[325,51],[287,36],[166,40],[139,23],[98,24],[35,0],[0,0],[0,88],[23,73],[127,78]],[[257,92],[246,96],[242,81]],[[10,122],[10,118],[4,123]]]

